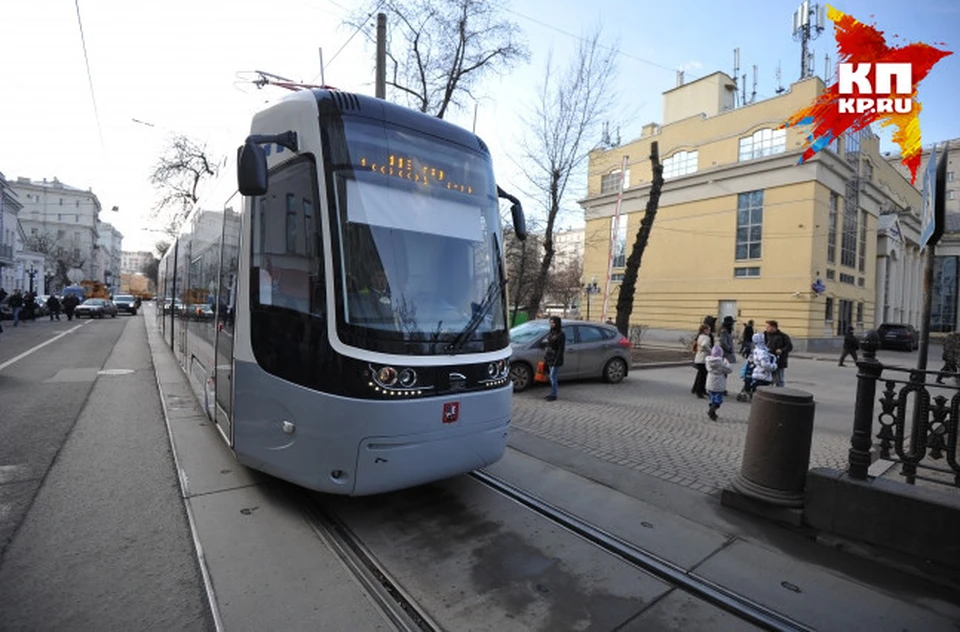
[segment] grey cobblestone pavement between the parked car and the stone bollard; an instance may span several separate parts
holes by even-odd
[[[798,359],[791,366],[805,362],[815,364]],[[720,419],[710,421],[707,400],[690,393],[692,380],[689,367],[636,370],[621,384],[563,382],[556,402],[545,402],[546,389],[534,387],[514,396],[513,425],[595,458],[719,494],[740,471],[750,404],[736,401],[740,380],[731,377]],[[854,393],[828,393],[849,402],[851,428]],[[818,419],[820,410],[818,401]],[[845,468],[850,435],[820,429],[818,419],[810,467]]]

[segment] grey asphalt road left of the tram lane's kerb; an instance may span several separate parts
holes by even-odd
[[[142,316],[11,325],[0,629],[212,629]]]

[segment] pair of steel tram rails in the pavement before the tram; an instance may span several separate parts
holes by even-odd
[[[487,472],[479,470],[463,479],[476,483],[488,493],[503,498],[504,500],[500,502],[520,505],[527,512],[535,515],[536,519],[549,521],[561,530],[586,542],[587,545],[602,550],[611,558],[663,582],[670,589],[682,591],[690,598],[716,607],[741,621],[765,630],[813,630],[787,615],[697,575],[695,568],[688,570],[664,559]],[[302,495],[302,502],[299,504],[303,507],[304,515],[311,528],[330,550],[340,557],[383,612],[385,618],[397,630],[433,632],[456,629],[456,625],[451,621],[448,620],[444,624],[432,616],[428,612],[429,607],[418,602],[416,595],[418,590],[404,588],[403,580],[396,578],[406,576],[409,579],[409,569],[397,567],[391,572],[391,568],[388,567],[396,564],[396,561],[385,562],[378,559],[377,553],[373,550],[376,545],[365,544],[363,536],[351,528],[348,524],[349,519],[344,518],[338,509],[338,507],[340,509],[344,507],[340,504],[344,499],[331,499],[306,491],[298,493]],[[400,494],[403,493],[400,492]],[[350,499],[347,502],[350,503],[349,511],[359,509],[367,513],[377,510],[376,506],[364,505],[362,499]],[[349,511],[346,512],[347,515]],[[359,528],[363,530],[362,526]],[[430,602],[431,599],[427,599],[426,603]],[[652,607],[654,603],[646,604],[645,607]],[[444,614],[437,613],[441,617]]]

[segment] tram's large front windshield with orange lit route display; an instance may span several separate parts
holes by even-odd
[[[329,134],[341,338],[394,353],[505,346],[489,156],[354,117]]]

